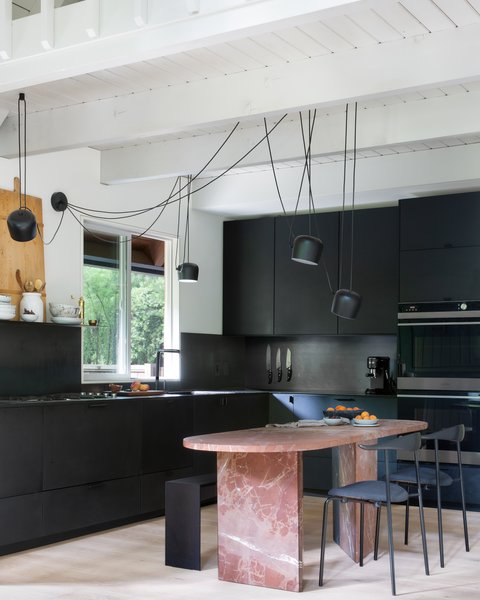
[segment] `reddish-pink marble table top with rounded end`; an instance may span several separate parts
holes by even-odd
[[[302,452],[368,442],[389,435],[422,431],[425,421],[381,419],[378,427],[260,427],[195,435],[183,440],[192,450],[210,452]]]

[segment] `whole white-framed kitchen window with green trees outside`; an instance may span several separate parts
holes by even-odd
[[[86,380],[155,377],[162,347],[178,348],[173,326],[172,241],[86,223],[84,231],[83,369]],[[177,343],[175,344],[175,340]],[[165,363],[178,378],[178,356]]]

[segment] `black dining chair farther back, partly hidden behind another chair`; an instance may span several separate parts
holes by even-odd
[[[462,470],[462,456],[461,456],[461,442],[465,437],[465,426],[454,425],[446,429],[440,429],[433,433],[427,433],[422,435],[422,440],[427,444],[433,442],[434,455],[435,455],[435,468],[420,465],[420,484],[424,488],[435,487],[436,488],[436,503],[437,503],[437,521],[438,521],[438,545],[440,551],[440,566],[445,566],[444,557],[444,546],[443,546],[443,520],[442,520],[442,494],[441,489],[452,485],[455,481],[460,483],[460,496],[462,503],[463,512],[463,535],[465,538],[465,551],[470,551],[470,543],[468,540],[468,523],[467,523],[467,511],[465,508],[465,489],[463,484],[463,470]],[[453,479],[448,473],[440,469],[440,455],[439,455],[439,442],[445,441],[450,442],[456,447],[457,456],[457,467],[458,467],[458,480]],[[400,485],[416,485],[416,467],[414,465],[401,467],[395,473],[390,475],[390,481]],[[408,489],[408,488],[407,488]],[[416,496],[416,493],[409,494],[409,496]],[[409,505],[407,501],[405,509],[405,544],[408,544],[408,523],[409,523]]]

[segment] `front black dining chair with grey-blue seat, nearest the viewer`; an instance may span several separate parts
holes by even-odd
[[[392,504],[403,503],[408,500],[408,492],[405,488],[398,484],[390,481],[390,468],[388,462],[388,452],[390,450],[407,450],[411,451],[414,459],[417,471],[419,470],[419,463],[417,457],[417,451],[421,447],[421,436],[419,433],[412,433],[409,435],[397,437],[395,439],[383,438],[377,441],[373,445],[359,444],[360,448],[364,450],[375,450],[377,452],[383,452],[385,460],[385,480],[368,480],[368,481],[357,481],[350,483],[338,488],[332,488],[328,491],[323,507],[323,521],[322,521],[322,538],[320,545],[320,572],[318,578],[318,585],[323,586],[323,571],[325,564],[325,544],[327,534],[327,519],[328,519],[328,506],[330,502],[336,500],[340,502],[358,502],[360,503],[360,557],[359,565],[363,566],[363,537],[364,537],[364,506],[365,503],[373,504],[377,508],[377,522],[376,522],[376,550],[378,550],[378,532],[380,527],[380,512],[379,509],[382,505],[387,508],[387,529],[388,529],[388,549],[390,556],[390,580],[392,595],[396,595],[396,583],[395,583],[395,561],[394,561],[394,544],[393,544],[393,525],[392,525]],[[419,482],[419,477],[418,477]],[[420,528],[422,533],[422,546],[423,546],[423,560],[425,565],[425,573],[429,575],[428,566],[428,551],[427,551],[427,540],[425,535],[425,519],[423,514],[423,502],[422,502],[422,488],[418,485],[418,499],[419,499],[419,510],[420,510]]]

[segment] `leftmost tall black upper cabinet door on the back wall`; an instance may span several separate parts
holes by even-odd
[[[223,333],[273,334],[274,219],[223,228]]]

